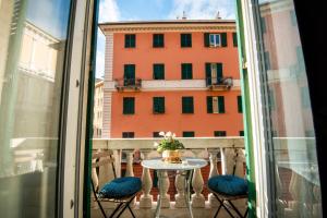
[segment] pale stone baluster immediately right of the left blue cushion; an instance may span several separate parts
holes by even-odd
[[[144,159],[148,159],[148,154],[150,153],[150,150],[141,150],[141,153],[144,156]],[[149,193],[153,187],[153,180],[148,168],[143,168],[141,179],[143,194],[140,198],[140,207],[150,208],[153,205],[153,195],[150,195]]]

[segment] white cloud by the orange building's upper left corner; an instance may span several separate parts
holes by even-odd
[[[120,11],[117,5],[117,0],[101,0],[99,11],[99,22],[118,21]]]

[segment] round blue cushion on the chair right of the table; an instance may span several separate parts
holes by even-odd
[[[232,174],[210,178],[208,181],[208,187],[214,192],[231,196],[247,194],[246,180]]]

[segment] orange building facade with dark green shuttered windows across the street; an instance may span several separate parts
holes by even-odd
[[[243,134],[234,21],[114,22],[100,28],[102,137]]]

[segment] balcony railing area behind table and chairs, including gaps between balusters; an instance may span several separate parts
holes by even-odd
[[[159,138],[160,140],[160,138]],[[121,177],[135,175],[142,178],[143,190],[134,202],[134,211],[137,217],[154,217],[157,205],[158,187],[154,183],[154,171],[142,168],[141,160],[160,157],[154,147],[157,138],[112,138],[94,140],[94,152],[112,152],[116,162],[116,172]],[[194,217],[214,217],[218,202],[206,187],[207,180],[216,174],[231,174],[234,161],[237,161],[235,174],[244,177],[244,141],[243,137],[195,137],[179,138],[186,147],[184,157],[201,157],[208,161],[208,165],[201,170],[195,170],[192,179],[192,210]],[[237,155],[238,154],[238,155]],[[108,171],[108,169],[110,169]],[[98,173],[94,169],[93,174],[98,174],[99,186],[113,179],[113,172],[102,167]],[[168,173],[170,175],[170,173]],[[189,217],[184,202],[184,183],[181,175],[171,174],[164,181],[164,190],[167,193],[162,199],[161,215],[165,217]],[[101,217],[97,204],[92,199],[92,217]],[[240,199],[235,205],[241,211],[245,211],[245,201]],[[105,203],[105,208],[110,210],[113,205]],[[225,216],[226,215],[226,216]],[[125,217],[130,214],[126,211]],[[124,217],[124,216],[123,216]],[[221,209],[219,217],[228,217]]]

